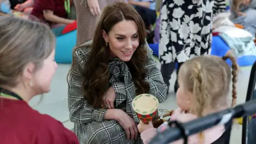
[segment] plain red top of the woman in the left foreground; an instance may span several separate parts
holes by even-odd
[[[0,98],[1,144],[78,144],[76,135],[25,101]]]

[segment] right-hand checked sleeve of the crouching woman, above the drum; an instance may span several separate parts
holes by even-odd
[[[149,93],[154,95],[159,102],[164,102],[167,93],[167,86],[164,83],[163,76],[160,70],[157,68],[156,61],[153,58],[153,51],[146,43],[147,49],[147,61],[145,67],[148,70],[146,81],[149,83],[150,91]]]

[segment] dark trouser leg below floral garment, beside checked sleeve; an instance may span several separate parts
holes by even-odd
[[[169,86],[170,86],[169,81],[171,79],[171,75],[172,75],[174,69],[175,69],[175,63],[174,62],[164,63],[164,64],[161,65],[161,74],[163,76],[164,83],[168,87],[167,94],[169,93]]]

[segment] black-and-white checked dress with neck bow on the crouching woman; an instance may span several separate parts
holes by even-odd
[[[82,71],[84,63],[90,53],[90,44],[88,41],[83,44],[83,48],[79,48],[74,52],[73,59],[74,68],[70,71],[68,78],[68,105],[70,111],[70,120],[75,123],[75,133],[80,143],[143,143],[138,135],[138,139],[131,141],[126,139],[126,133],[121,125],[115,120],[103,120],[103,115],[107,109],[92,108],[83,97],[82,82],[84,77]],[[166,98],[167,86],[163,81],[163,77],[156,67],[156,61],[153,59],[153,53],[148,44],[147,49],[148,60],[145,67],[148,69],[146,81],[150,85],[150,94],[155,95],[159,102],[163,102]],[[133,117],[135,123],[139,123],[139,118],[132,109],[132,100],[136,96],[137,89],[132,82],[132,76],[125,62],[118,58],[111,58],[109,62],[110,84],[116,92],[115,107],[126,111]],[[121,79],[121,77],[123,77]],[[123,82],[122,82],[123,81]]]

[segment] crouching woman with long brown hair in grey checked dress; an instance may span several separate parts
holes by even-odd
[[[163,102],[167,90],[145,31],[132,5],[115,3],[103,10],[93,42],[74,50],[69,111],[81,143],[143,143],[132,100],[149,93]]]

